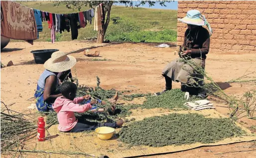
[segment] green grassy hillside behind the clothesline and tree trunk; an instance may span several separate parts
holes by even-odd
[[[19,3],[53,13],[72,13],[78,10],[71,10],[66,6],[53,7],[52,1],[18,1]],[[83,11],[89,9],[83,7]],[[151,8],[130,8],[123,6],[113,6],[111,19],[118,19],[114,24],[111,20],[107,29],[106,39],[111,41],[133,41],[133,42],[171,42],[177,37],[177,10],[151,9]],[[84,40],[88,37],[96,37],[92,25],[79,29],[78,39]],[[51,33],[48,23],[43,22],[43,32],[39,32],[39,39],[36,41],[50,41]],[[14,40],[12,40],[14,41]],[[56,33],[56,41],[71,41],[71,32],[62,34]]]

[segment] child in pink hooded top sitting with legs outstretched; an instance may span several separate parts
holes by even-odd
[[[84,120],[77,120],[74,112],[83,113],[92,108],[97,101],[92,99],[90,103],[79,105],[84,99],[89,96],[76,97],[77,86],[73,82],[63,82],[60,86],[60,91],[63,96],[58,97],[52,108],[57,112],[59,121],[58,130],[61,132],[81,132],[88,130],[95,130],[98,127],[107,126],[113,128],[120,128],[123,125],[123,120],[115,123],[94,123],[85,122]]]

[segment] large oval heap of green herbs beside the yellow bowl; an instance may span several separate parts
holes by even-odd
[[[121,130],[119,139],[133,146],[163,147],[214,143],[243,134],[244,131],[228,118],[205,118],[195,113],[173,113],[133,122]]]

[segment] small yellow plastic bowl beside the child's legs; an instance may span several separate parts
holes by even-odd
[[[112,127],[98,127],[95,129],[98,138],[101,140],[109,140],[113,137],[115,133],[115,128]]]

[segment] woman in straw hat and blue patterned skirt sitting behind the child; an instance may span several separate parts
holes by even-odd
[[[37,82],[35,91],[36,107],[38,111],[52,110],[55,99],[62,94],[59,91],[58,73],[70,70],[76,64],[76,58],[64,52],[54,52],[50,59],[44,63],[46,69]]]

